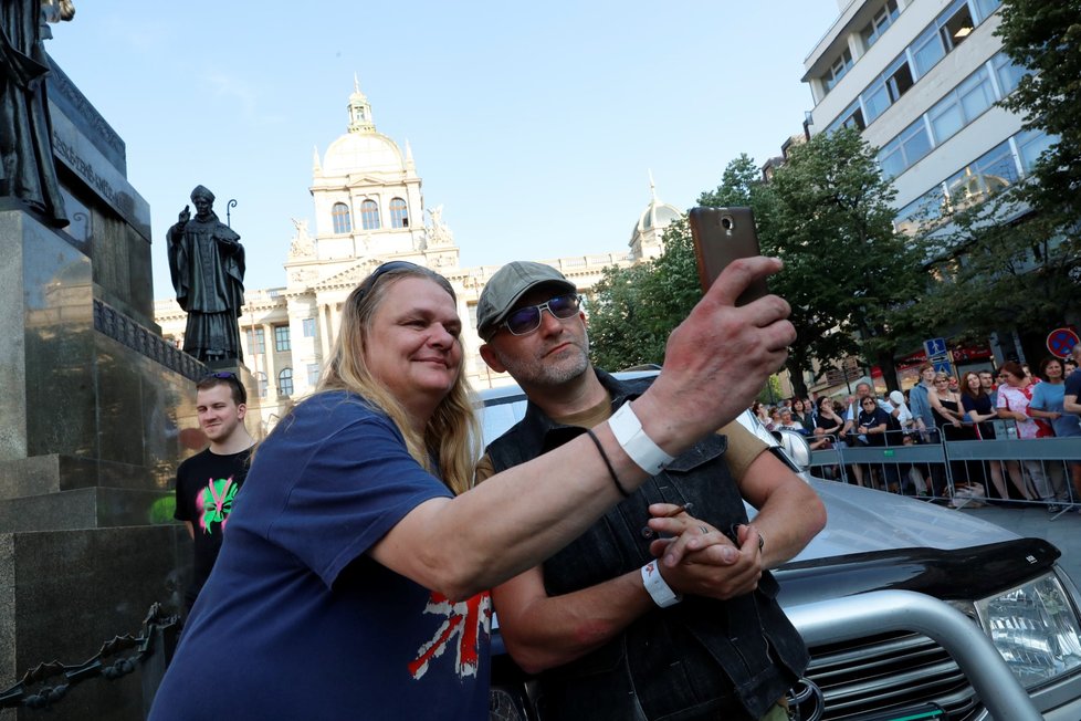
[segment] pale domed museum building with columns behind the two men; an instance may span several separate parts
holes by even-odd
[[[421,177],[412,150],[405,151],[376,129],[371,104],[354,85],[347,105],[346,133],[316,150],[312,164],[315,228],[293,220],[295,234],[283,259],[286,285],[248,289],[240,318],[244,364],[259,388],[251,388],[250,410],[262,430],[309,394],[334,343],[342,304],[377,265],[408,260],[438,270],[458,294],[459,314],[469,318],[463,334],[466,374],[474,387],[510,382],[481,359],[476,335],[476,303],[498,265],[462,268],[459,245],[442,219],[442,206],[424,203]],[[659,255],[664,229],[682,210],[657,198],[650,178],[650,200],[634,221],[622,250],[573,258],[534,259],[558,268],[586,294],[609,265],[626,267]],[[284,223],[284,218],[282,219]],[[583,245],[604,247],[604,240],[583,239]],[[182,345],[186,314],[175,300],[155,303],[162,335]],[[258,399],[256,399],[258,396]],[[252,430],[259,431],[254,424]]]

